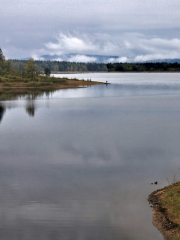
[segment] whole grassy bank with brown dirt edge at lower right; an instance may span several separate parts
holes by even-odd
[[[165,239],[180,240],[180,182],[150,194],[153,224]]]

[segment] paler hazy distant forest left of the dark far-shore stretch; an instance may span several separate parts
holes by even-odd
[[[27,60],[10,60],[11,65],[18,71],[23,71]],[[51,72],[106,72],[107,67],[104,63],[76,63],[66,61],[34,61],[40,71],[45,68]]]

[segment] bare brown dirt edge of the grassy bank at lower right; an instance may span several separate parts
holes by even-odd
[[[179,183],[174,183],[162,189],[156,190],[149,195],[148,202],[153,208],[153,225],[161,232],[166,240],[180,239],[179,225],[164,205],[163,196],[167,190],[171,190]]]

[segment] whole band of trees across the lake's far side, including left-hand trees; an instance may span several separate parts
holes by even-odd
[[[0,48],[0,76],[18,75],[34,80],[44,73],[51,72],[179,72],[180,63],[145,62],[145,63],[81,63],[66,61],[6,60]]]

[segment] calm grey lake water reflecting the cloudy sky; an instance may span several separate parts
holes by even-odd
[[[180,74],[66,76],[111,84],[0,93],[0,239],[162,240],[147,198],[180,179]]]

